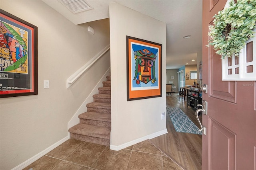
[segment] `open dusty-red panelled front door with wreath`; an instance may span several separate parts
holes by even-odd
[[[256,170],[256,82],[222,81],[221,57],[206,47],[208,26],[225,4],[226,0],[203,0],[203,83],[208,84],[203,99],[208,115],[203,115],[207,130],[202,137],[202,169]]]

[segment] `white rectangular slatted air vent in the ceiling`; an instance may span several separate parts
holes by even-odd
[[[61,2],[74,14],[93,9],[89,2],[86,0],[59,0],[59,2]]]

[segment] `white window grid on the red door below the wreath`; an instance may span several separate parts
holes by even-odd
[[[255,30],[254,30],[255,31]],[[252,61],[247,62],[247,44],[252,42]],[[246,41],[246,46],[241,49],[239,57],[231,57],[228,64],[228,57],[222,59],[222,80],[223,81],[255,81],[256,80],[256,37]],[[237,58],[237,59],[236,59]],[[238,62],[236,62],[238,60]],[[252,72],[247,72],[250,66]]]

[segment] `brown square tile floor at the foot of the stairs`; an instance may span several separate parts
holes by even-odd
[[[146,140],[119,151],[68,139],[24,170],[182,170]],[[31,170],[31,169],[30,169]]]

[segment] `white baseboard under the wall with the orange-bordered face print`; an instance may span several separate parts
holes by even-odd
[[[122,144],[122,145],[118,145],[118,146],[116,146],[116,145],[110,145],[110,149],[111,149],[111,150],[116,150],[116,151],[118,151],[118,150],[121,150],[121,149],[130,147],[130,146],[132,146],[132,145],[134,145],[134,144],[136,144],[136,143],[140,143],[140,142],[142,142],[142,141],[146,141],[147,139],[152,139],[152,138],[155,138],[155,137],[164,135],[164,134],[166,134],[166,133],[168,133],[168,131],[167,131],[167,129],[164,129],[164,130],[162,130],[162,131],[158,131],[158,132],[156,132],[156,133],[152,133],[152,134],[150,134],[150,135],[141,137],[141,138],[139,138],[139,139],[135,139],[135,140],[130,141],[130,142],[128,142],[128,143],[124,143],[124,144]]]

